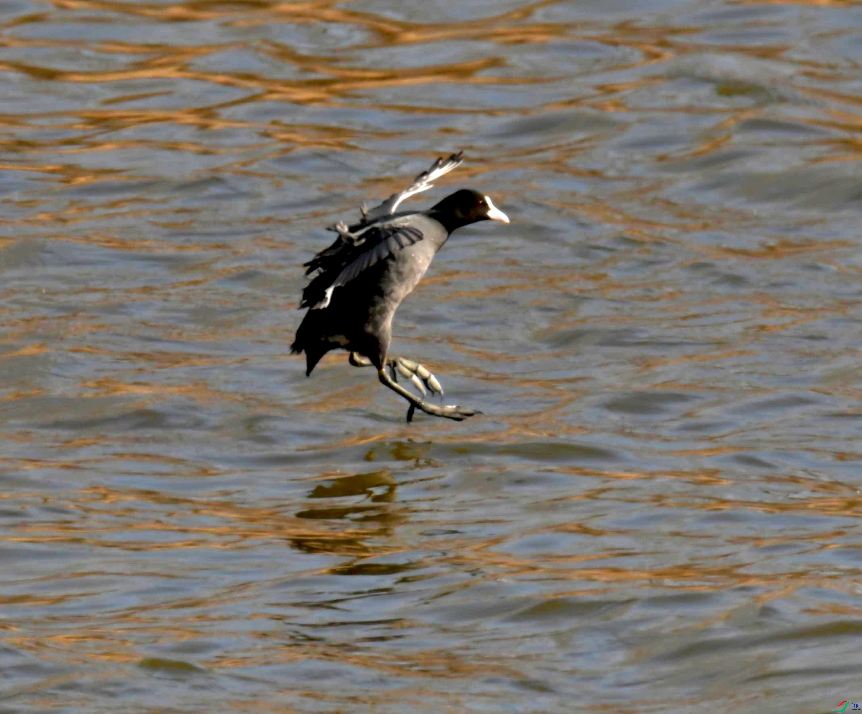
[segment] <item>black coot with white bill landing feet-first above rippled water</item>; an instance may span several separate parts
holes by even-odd
[[[422,394],[428,388],[443,393],[440,382],[422,364],[403,357],[389,357],[392,317],[403,299],[422,279],[428,265],[449,235],[478,220],[509,223],[488,196],[461,189],[427,211],[396,213],[405,198],[430,189],[432,181],[452,171],[463,152],[446,160],[438,158],[428,171],[400,193],[375,208],[363,204],[362,219],[353,226],[336,223],[334,243],[304,266],[305,274],[317,275],[303,289],[299,307],[308,307],[290,351],[305,352],[306,376],[323,355],[341,348],[350,352],[356,367],[373,365],[378,378],[409,401],[407,420],[415,410],[460,421],[476,412],[454,405],[440,406],[422,400],[397,383],[397,374],[409,379]],[[392,376],[386,373],[389,367]]]

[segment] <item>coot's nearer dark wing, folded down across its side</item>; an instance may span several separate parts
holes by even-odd
[[[403,218],[351,228],[355,230],[354,241],[339,235],[332,245],[305,264],[306,275],[314,270],[321,272],[303,290],[299,307],[312,310],[327,307],[334,289],[346,285],[396,251],[422,240],[422,231],[407,225]]]

